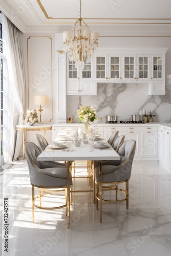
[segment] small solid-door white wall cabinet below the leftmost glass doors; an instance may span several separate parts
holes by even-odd
[[[67,95],[96,95],[97,85],[93,81],[68,81]]]

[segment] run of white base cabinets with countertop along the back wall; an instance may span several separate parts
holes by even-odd
[[[171,173],[171,123],[105,123],[98,122],[100,135],[106,140],[112,133],[118,131],[125,140],[136,140],[134,163],[159,163]],[[52,140],[61,129],[70,127],[75,131],[76,126],[83,123],[57,123],[52,125]]]

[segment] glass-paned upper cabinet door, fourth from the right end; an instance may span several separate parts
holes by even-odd
[[[122,79],[121,59],[120,55],[112,54],[108,56],[108,78],[110,78],[110,80]]]

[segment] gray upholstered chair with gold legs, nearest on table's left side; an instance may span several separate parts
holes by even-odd
[[[32,185],[32,216],[34,223],[34,207],[40,209],[60,209],[66,207],[66,215],[69,220],[70,215],[70,187],[72,186],[72,177],[70,174],[69,183],[67,184],[67,168],[49,167],[46,161],[37,161],[40,150],[33,142],[25,142],[25,156],[29,168],[30,183]],[[51,166],[51,165],[50,165]],[[34,188],[40,189],[40,194],[35,197]],[[66,202],[58,207],[41,206],[41,198],[45,196],[45,191],[49,194],[54,193],[54,189],[65,190]],[[52,190],[53,189],[53,190]],[[61,190],[60,190],[61,191]],[[56,193],[59,190],[55,191]],[[40,198],[40,205],[35,204],[35,200]],[[68,221],[69,228],[69,221]]]

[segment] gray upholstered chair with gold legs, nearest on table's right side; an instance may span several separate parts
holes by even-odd
[[[129,179],[131,177],[132,163],[136,148],[135,140],[127,140],[118,148],[120,163],[115,165],[104,165],[95,168],[96,183],[96,205],[98,209],[98,200],[100,201],[100,222],[102,222],[102,202],[118,203],[126,201],[126,208],[129,206]],[[102,176],[100,176],[100,168],[102,167]],[[100,182],[100,179],[101,182]],[[125,189],[118,188],[120,183],[125,182]],[[115,199],[106,200],[104,191],[115,190]],[[125,194],[125,197],[118,199],[118,191]]]

